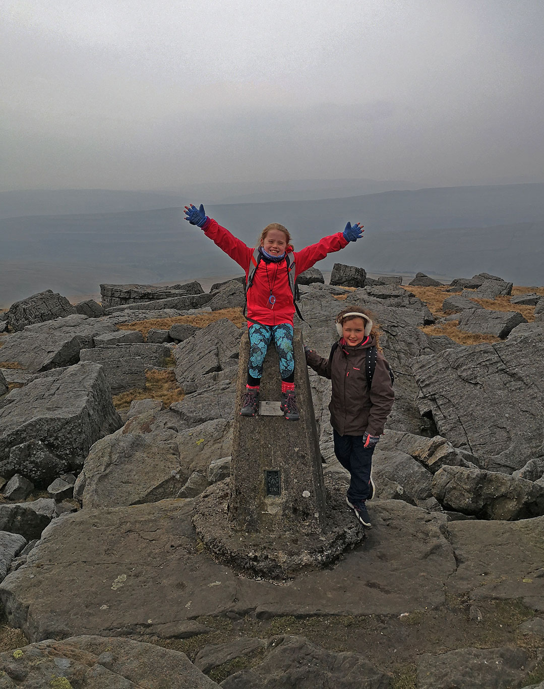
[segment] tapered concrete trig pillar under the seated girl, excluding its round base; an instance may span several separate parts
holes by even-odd
[[[264,360],[260,412],[240,416],[249,338],[240,343],[229,519],[244,531],[318,533],[326,524],[321,454],[300,330],[295,330],[295,391],[300,420],[280,411],[282,380],[273,342]]]

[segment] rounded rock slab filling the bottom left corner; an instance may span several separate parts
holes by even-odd
[[[0,654],[5,689],[212,689],[185,653],[131,639],[78,636]]]

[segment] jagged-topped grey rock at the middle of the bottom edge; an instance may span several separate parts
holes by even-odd
[[[337,653],[316,646],[304,637],[280,636],[269,639],[260,664],[235,672],[221,686],[223,689],[389,689],[391,677],[359,653]]]

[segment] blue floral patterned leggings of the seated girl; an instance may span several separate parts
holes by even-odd
[[[282,380],[288,383],[292,383],[295,380],[293,326],[289,323],[280,323],[280,325],[253,323],[249,327],[248,385],[259,384],[262,376],[262,364],[272,338],[280,357],[280,376],[282,376]]]

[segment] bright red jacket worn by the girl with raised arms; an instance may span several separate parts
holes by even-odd
[[[207,237],[244,269],[247,280],[254,249],[245,245],[212,218],[207,219],[202,229]],[[344,249],[346,245],[348,245],[348,240],[344,238],[342,232],[337,232],[330,237],[324,237],[317,244],[295,251],[295,278],[311,268],[318,260],[325,258],[327,254]],[[271,292],[275,296],[273,308],[269,304]],[[289,287],[286,263],[284,261],[266,263],[260,260],[253,276],[253,285],[247,292],[247,315],[263,325],[278,325],[279,323],[293,325],[294,313],[295,305]],[[248,322],[247,325],[251,323]]]

